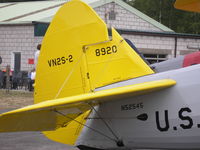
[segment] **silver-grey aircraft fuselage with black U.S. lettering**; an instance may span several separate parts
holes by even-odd
[[[84,127],[76,145],[99,149],[199,149],[199,77],[200,65],[195,65],[97,89],[166,78],[177,82],[175,86],[161,91],[102,103],[93,110],[86,123],[100,133]],[[123,146],[117,146],[117,141],[123,142]]]

